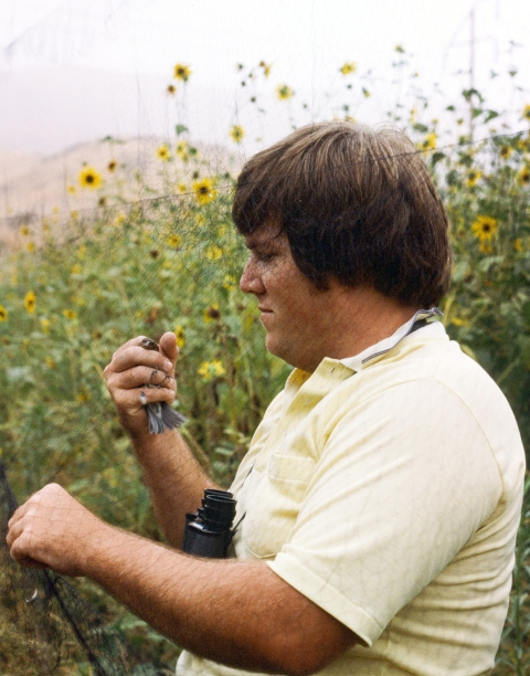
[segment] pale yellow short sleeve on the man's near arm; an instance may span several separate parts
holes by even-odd
[[[471,412],[435,380],[388,390],[328,433],[268,566],[370,646],[495,511],[502,482]]]

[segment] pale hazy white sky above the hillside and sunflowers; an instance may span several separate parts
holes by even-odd
[[[507,72],[519,71],[523,89],[530,82],[527,0],[2,0],[0,149],[163,135],[177,118],[209,142],[224,142],[241,123],[252,145],[285,133],[303,103],[309,119],[330,99],[379,122],[414,85],[392,68],[396,45],[410,63],[403,73],[417,71],[425,93],[439,83],[434,114],[469,84],[471,10],[475,85],[490,107],[518,110],[530,95],[513,91]],[[256,85],[266,114],[248,103],[252,83],[241,86],[261,61],[272,64]],[[358,68],[348,81],[338,72],[346,61]],[[178,62],[192,75],[170,99],[165,87],[179,84],[171,80]],[[274,96],[284,83],[296,92],[287,103]]]

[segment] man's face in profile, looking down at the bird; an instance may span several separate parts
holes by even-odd
[[[319,292],[299,271],[287,235],[278,234],[277,229],[264,225],[245,244],[251,255],[240,287],[257,298],[267,350],[292,366],[314,371],[326,356],[332,330],[329,320],[336,286]]]

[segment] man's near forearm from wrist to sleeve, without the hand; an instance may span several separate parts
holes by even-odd
[[[320,624],[322,611],[265,563],[195,559],[116,529],[102,545],[85,573],[201,657],[243,669],[306,674],[346,649],[344,640],[351,642],[342,625],[337,633],[333,619]]]

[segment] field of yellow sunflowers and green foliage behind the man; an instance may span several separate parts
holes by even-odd
[[[269,71],[262,62],[250,80],[265,82]],[[351,88],[356,71],[354,63],[339,68],[343,97],[369,95],[365,82]],[[168,94],[191,76],[189,65],[178,64]],[[290,105],[295,92],[282,84],[275,95],[278,105]],[[389,117],[424,154],[449,213],[455,262],[443,320],[499,383],[530,450],[530,105],[513,131],[498,135],[489,125],[499,113],[478,92],[464,92],[464,102],[473,104],[484,140],[460,133],[453,106],[445,114],[454,114],[454,123],[444,133],[425,99],[406,116]],[[337,110],[342,118],[351,113],[341,101]],[[451,134],[453,140],[442,142]],[[227,130],[229,142],[244,137],[240,124]],[[121,170],[116,162],[80,167],[67,189],[95,191],[98,207],[23,225],[20,246],[2,255],[0,453],[20,500],[56,480],[106,520],[159,538],[104,385],[114,350],[131,336],[176,332],[178,405],[190,419],[183,434],[222,485],[230,484],[288,368],[264,349],[255,304],[237,287],[245,250],[230,218],[234,177],[212,173],[181,124],[155,159],[165,194],[125,202],[114,181]],[[156,644],[159,656],[171,658],[173,646],[98,590],[82,587],[108,622],[132,630],[138,646],[148,644],[152,654]],[[530,479],[497,676],[530,673],[529,600]],[[2,673],[14,669],[2,659]],[[64,673],[91,672],[77,665]]]

